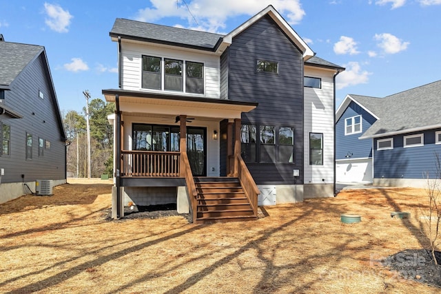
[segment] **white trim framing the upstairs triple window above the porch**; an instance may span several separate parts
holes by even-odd
[[[144,57],[154,57],[161,59],[160,61],[160,69],[158,74],[161,77],[161,85],[159,88],[149,88],[149,87],[143,87],[143,73],[147,72],[144,70]],[[166,90],[165,89],[165,59],[172,60],[172,61],[180,61],[181,62],[181,78],[182,78],[182,90]],[[202,93],[195,93],[195,92],[187,92],[187,62],[189,63],[199,63],[202,65]],[[175,93],[184,93],[184,94],[192,94],[192,95],[201,95],[205,96],[205,89],[206,86],[206,72],[205,72],[205,62],[204,61],[194,61],[194,60],[187,60],[187,59],[180,59],[178,57],[165,57],[165,56],[154,56],[149,54],[142,54],[141,55],[141,89],[142,90],[154,90],[154,91],[161,91],[161,92],[175,92]]]

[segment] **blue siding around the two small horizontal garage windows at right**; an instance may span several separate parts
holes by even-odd
[[[435,132],[438,131],[441,129],[393,136],[393,149],[388,150],[377,150],[377,139],[374,139],[373,177],[423,179],[428,172],[430,178],[434,178],[435,152],[441,155],[441,144],[435,144]],[[421,133],[424,134],[424,146],[403,147],[404,136]]]

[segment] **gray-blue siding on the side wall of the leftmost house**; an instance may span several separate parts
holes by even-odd
[[[65,179],[65,143],[57,121],[57,107],[52,103],[52,85],[45,74],[43,54],[32,61],[5,93],[5,104],[23,118],[1,115],[3,124],[10,125],[10,156],[0,156],[5,169],[2,182],[37,179]],[[39,90],[44,99],[39,97]],[[32,134],[32,160],[25,159],[26,132]],[[39,138],[50,141],[50,149],[39,156]]]

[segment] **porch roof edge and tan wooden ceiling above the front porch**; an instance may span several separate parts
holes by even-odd
[[[116,102],[116,95],[119,95],[121,112],[133,114],[170,116],[186,114],[207,118],[240,118],[242,112],[249,112],[258,105],[243,101],[125,90],[103,90],[103,95],[107,102]]]

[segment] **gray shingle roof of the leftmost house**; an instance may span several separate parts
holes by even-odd
[[[0,41],[0,85],[9,86],[43,50],[43,46],[39,45]]]

